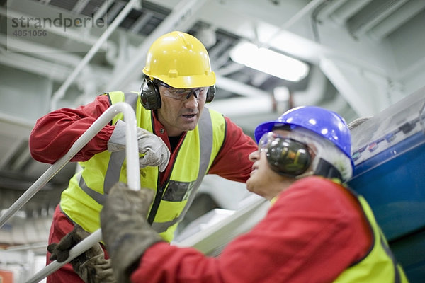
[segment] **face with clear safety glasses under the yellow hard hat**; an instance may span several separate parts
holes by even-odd
[[[162,106],[157,110],[159,122],[170,137],[191,131],[198,125],[208,88],[179,89],[158,86]]]

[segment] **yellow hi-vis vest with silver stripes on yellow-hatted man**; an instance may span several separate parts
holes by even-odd
[[[137,127],[153,132],[152,111],[140,103],[137,93],[115,91],[106,93],[111,104],[129,103],[136,113]],[[114,117],[112,124],[123,119],[123,114]],[[156,191],[149,212],[152,228],[166,241],[174,237],[176,226],[183,219],[193,202],[203,177],[225,139],[225,118],[214,110],[204,108],[198,125],[188,131],[172,166],[166,182],[159,187],[157,167],[140,169],[140,185]],[[79,162],[82,170],[69,181],[69,186],[60,201],[64,214],[86,231],[93,233],[100,228],[99,213],[109,190],[118,181],[127,183],[125,151],[103,151],[95,154],[89,161]]]

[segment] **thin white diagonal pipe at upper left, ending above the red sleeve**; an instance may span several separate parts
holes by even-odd
[[[56,109],[57,101],[60,100],[65,95],[65,91],[67,91],[67,88],[71,85],[71,83],[74,81],[74,79],[77,77],[79,72],[86,66],[87,63],[91,60],[91,58],[94,57],[96,52],[99,50],[99,48],[103,45],[103,42],[105,42],[108,37],[113,33],[115,28],[120,25],[120,23],[124,20],[125,16],[130,13],[132,6],[135,4],[136,1],[139,0],[131,0],[128,2],[128,4],[123,8],[123,10],[119,13],[119,15],[115,18],[113,23],[108,26],[108,28],[102,33],[101,37],[99,37],[98,41],[91,47],[89,52],[87,52],[86,56],[81,60],[81,62],[78,64],[77,67],[75,67],[74,71],[72,71],[72,74],[70,74],[66,81],[60,86],[60,88],[55,92],[55,94],[52,96],[52,101],[50,103],[51,110]]]

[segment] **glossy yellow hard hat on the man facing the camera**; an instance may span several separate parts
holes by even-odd
[[[158,37],[147,52],[143,74],[174,88],[215,84],[205,46],[192,35],[173,31]]]

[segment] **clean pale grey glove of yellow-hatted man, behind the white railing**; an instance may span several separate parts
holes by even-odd
[[[160,137],[152,132],[137,127],[137,142],[140,154],[140,168],[146,166],[159,166],[159,171],[163,172],[170,159],[170,151]],[[121,151],[125,149],[125,122],[118,120],[115,129],[108,141],[108,151]]]

